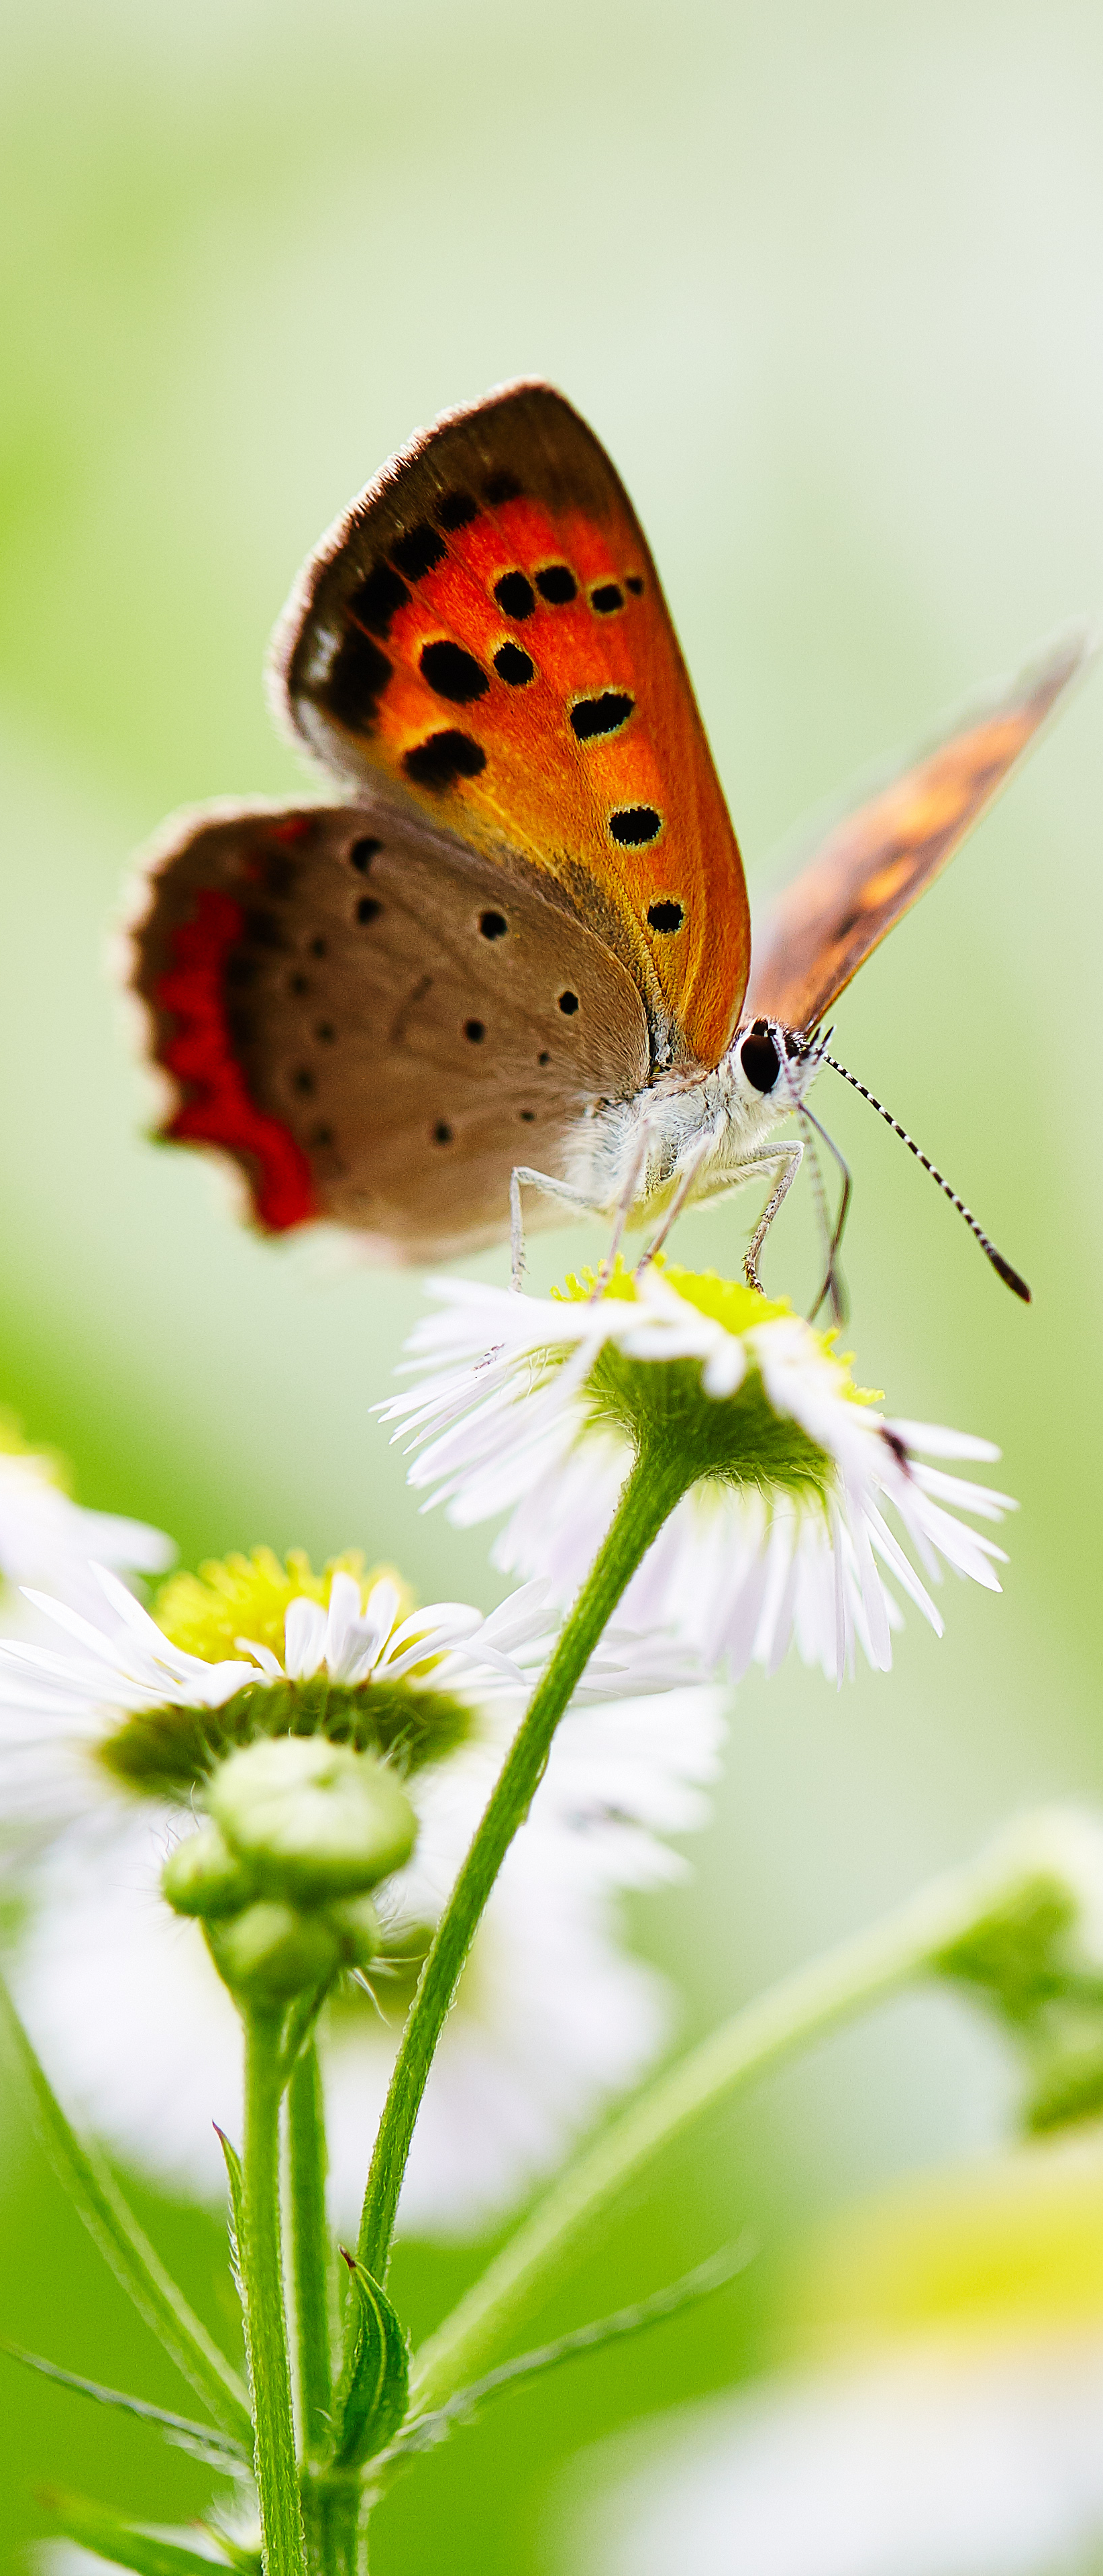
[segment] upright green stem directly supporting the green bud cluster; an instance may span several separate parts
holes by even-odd
[[[245,2017],[242,2293],[265,2576],[304,2576],[278,2218],[281,2014]]]

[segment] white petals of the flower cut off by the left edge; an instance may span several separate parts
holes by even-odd
[[[21,1584],[49,1584],[67,1602],[98,1602],[90,1561],[131,1574],[162,1574],[175,1548],[144,1520],[85,1512],[62,1484],[62,1466],[46,1450],[23,1445],[10,1414],[0,1412],[0,1577],[5,1625],[18,1625]]]

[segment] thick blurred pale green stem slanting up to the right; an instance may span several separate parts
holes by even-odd
[[[910,1986],[935,1968],[938,1955],[972,1932],[995,1901],[1033,1888],[1039,1878],[1049,1888],[1046,1873],[1031,1870],[1023,1855],[1010,1868],[1002,1862],[1002,1873],[995,1873],[992,1862],[977,1862],[941,1878],[868,1932],[786,1976],[781,1986],[701,2040],[570,2166],[423,2347],[412,2372],[412,2409],[428,2414],[443,2406],[487,2367],[508,2342],[518,2311],[562,2277],[575,2239],[691,2120],[825,2030]]]

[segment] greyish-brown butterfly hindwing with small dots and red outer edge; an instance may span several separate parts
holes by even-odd
[[[227,1151],[271,1231],[335,1218],[392,1260],[497,1242],[513,1164],[564,1177],[588,1105],[647,1079],[616,956],[381,799],[183,819],[131,984],[162,1133]]]

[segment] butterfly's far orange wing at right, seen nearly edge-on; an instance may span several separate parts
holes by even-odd
[[[941,876],[1095,649],[1088,626],[1067,629],[827,827],[753,933],[745,1018],[817,1028],[863,958]]]

